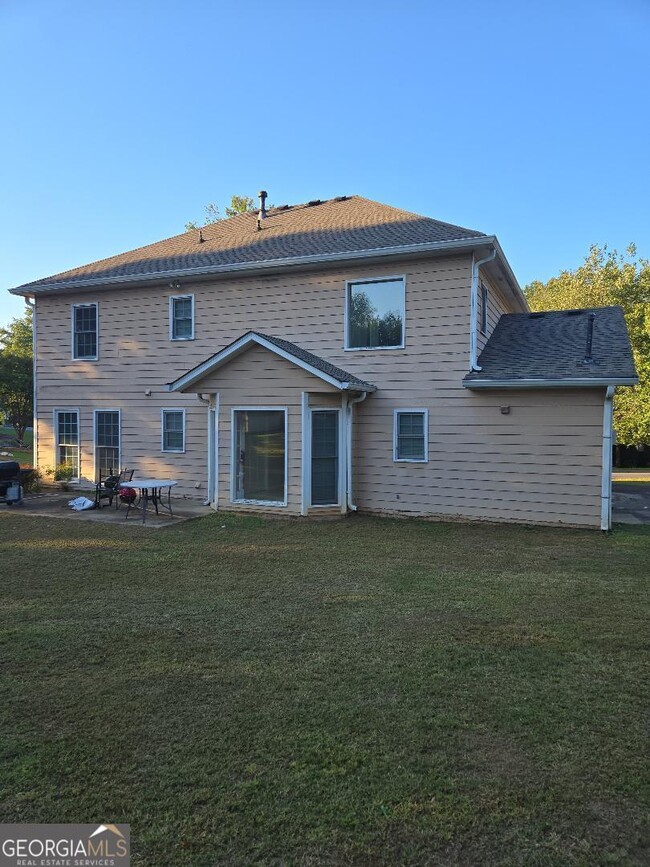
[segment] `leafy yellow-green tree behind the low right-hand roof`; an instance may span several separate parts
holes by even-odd
[[[620,445],[650,443],[650,261],[638,258],[633,244],[624,254],[592,245],[579,268],[524,292],[532,310],[623,308],[639,384],[617,392],[614,429]]]

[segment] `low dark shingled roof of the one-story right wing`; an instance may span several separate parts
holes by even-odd
[[[591,363],[585,363],[589,314]],[[506,313],[468,373],[466,388],[635,385],[638,382],[621,307]]]

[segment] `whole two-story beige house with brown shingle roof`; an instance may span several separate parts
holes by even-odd
[[[13,289],[35,454],[214,508],[610,526],[622,311],[530,313],[493,235],[358,196]]]

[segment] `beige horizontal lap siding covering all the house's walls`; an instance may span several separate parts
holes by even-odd
[[[405,348],[345,351],[345,281],[396,274],[406,280]],[[165,285],[39,298],[39,464],[53,459],[54,408],[79,408],[81,470],[92,478],[92,411],[119,408],[123,463],[138,475],[176,478],[181,495],[205,497],[207,407],[195,394],[169,393],[165,384],[252,329],[293,341],[377,386],[354,409],[353,496],[360,510],[598,526],[602,390],[464,389],[470,280],[471,259],[463,256],[183,282],[180,290]],[[491,282],[489,289],[491,330],[508,308]],[[179,291],[194,294],[192,341],[169,340],[168,299]],[[97,362],[70,359],[72,298],[99,302]],[[201,384],[203,394],[221,395],[220,506],[230,495],[230,409],[264,405],[289,407],[284,512],[299,508],[301,394],[310,392],[311,405],[316,398],[339,404],[340,395],[328,388],[261,348]],[[501,415],[500,405],[510,405],[510,415]],[[186,452],[163,454],[160,410],[175,407],[186,409]],[[428,463],[393,461],[393,412],[410,407],[429,411]]]

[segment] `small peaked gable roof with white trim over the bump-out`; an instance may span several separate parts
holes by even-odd
[[[205,361],[197,364],[187,373],[179,376],[174,382],[167,385],[168,391],[183,391],[190,385],[199,382],[209,373],[227,364],[233,358],[241,355],[253,345],[263,346],[270,352],[275,353],[281,358],[296,364],[308,373],[322,379],[323,381],[339,388],[342,391],[376,391],[376,386],[369,382],[364,382],[358,379],[352,373],[348,373],[329,361],[314,355],[313,352],[307,352],[295,343],[290,343],[288,340],[282,340],[279,337],[271,337],[268,334],[260,334],[257,331],[248,331],[243,334],[238,340],[230,343],[224,349],[210,356]]]

